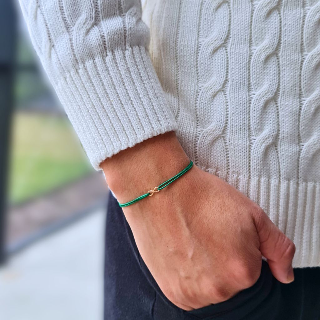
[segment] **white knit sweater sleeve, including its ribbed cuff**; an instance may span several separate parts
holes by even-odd
[[[96,170],[176,130],[140,0],[19,0],[32,44]]]

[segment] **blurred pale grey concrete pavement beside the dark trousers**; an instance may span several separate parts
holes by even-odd
[[[0,319],[100,320],[105,210],[44,238],[0,268]]]

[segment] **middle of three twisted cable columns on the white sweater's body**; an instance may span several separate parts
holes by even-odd
[[[253,8],[252,17],[252,57],[250,109],[251,124],[251,179],[255,182],[250,197],[269,211],[269,201],[265,193],[260,194],[259,180],[263,189],[268,179],[280,175],[276,149],[278,134],[278,114],[276,93],[279,86],[279,66],[276,48],[280,37],[280,17],[277,0],[261,0]],[[276,196],[276,195],[275,195]],[[276,198],[273,199],[277,201]],[[276,209],[276,208],[275,208]],[[273,217],[274,218],[274,217]]]

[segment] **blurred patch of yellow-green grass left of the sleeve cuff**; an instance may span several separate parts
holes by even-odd
[[[50,192],[92,170],[66,117],[16,112],[9,173],[11,204]]]

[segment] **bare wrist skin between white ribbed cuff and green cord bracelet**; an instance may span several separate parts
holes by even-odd
[[[124,203],[174,176],[189,162],[175,133],[167,132],[120,151],[101,168],[109,188]]]

